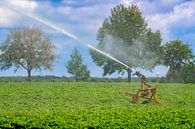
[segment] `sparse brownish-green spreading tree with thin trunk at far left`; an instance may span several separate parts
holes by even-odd
[[[15,29],[0,46],[0,70],[25,69],[30,80],[33,69],[52,69],[54,48],[49,35],[38,28]]]

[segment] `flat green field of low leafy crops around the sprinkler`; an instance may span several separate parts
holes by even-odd
[[[161,104],[132,104],[139,83],[0,83],[0,128],[195,128],[195,85],[154,84]]]

